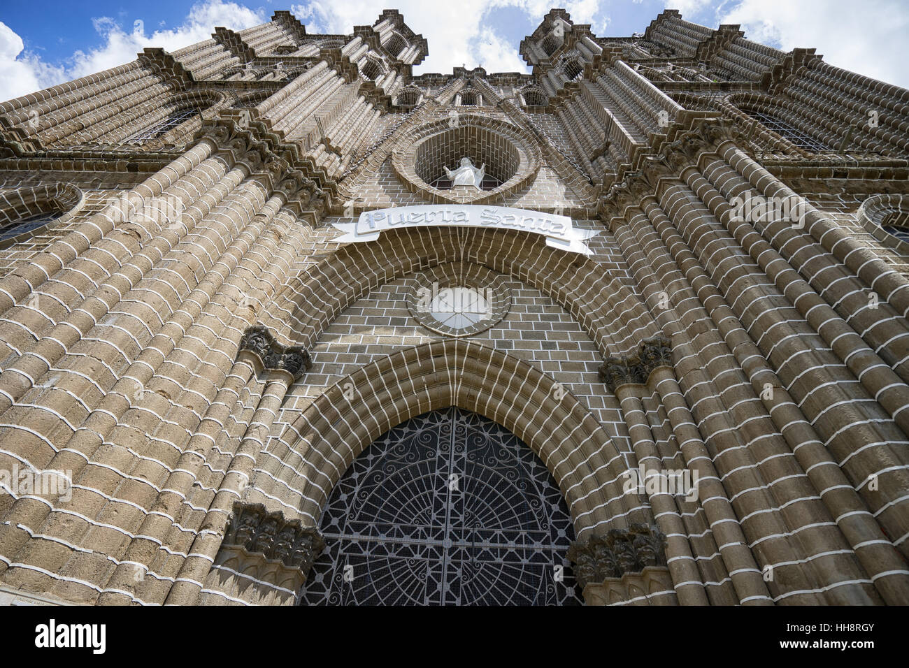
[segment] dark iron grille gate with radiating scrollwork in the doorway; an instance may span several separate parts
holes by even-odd
[[[571,517],[514,434],[447,408],[375,441],[335,486],[301,604],[577,604]]]

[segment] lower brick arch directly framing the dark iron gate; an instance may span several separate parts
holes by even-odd
[[[295,507],[317,526],[365,447],[448,406],[483,415],[531,447],[559,485],[579,539],[649,519],[622,493],[624,456],[593,414],[531,364],[464,339],[405,348],[328,388],[260,455],[248,501],[280,499],[285,513]]]

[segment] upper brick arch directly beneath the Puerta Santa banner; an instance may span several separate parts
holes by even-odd
[[[660,334],[646,306],[602,264],[551,248],[538,234],[456,227],[389,230],[375,242],[347,244],[297,274],[263,323],[311,348],[369,290],[462,260],[533,285],[574,316],[604,357],[633,354],[641,341]]]

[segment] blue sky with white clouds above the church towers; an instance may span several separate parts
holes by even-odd
[[[665,8],[715,28],[739,24],[745,37],[784,51],[814,47],[833,65],[909,88],[906,0],[155,0],[0,3],[0,100],[135,59],[146,46],[175,51],[208,39],[216,25],[242,30],[289,9],[314,33],[347,34],[395,7],[429,41],[415,74],[482,65],[527,72],[517,48],[553,6],[595,35],[643,33]]]

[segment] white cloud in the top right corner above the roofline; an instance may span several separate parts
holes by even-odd
[[[909,5],[903,0],[742,0],[724,8],[720,22],[741,24],[755,42],[784,51],[814,47],[831,65],[909,87]]]

